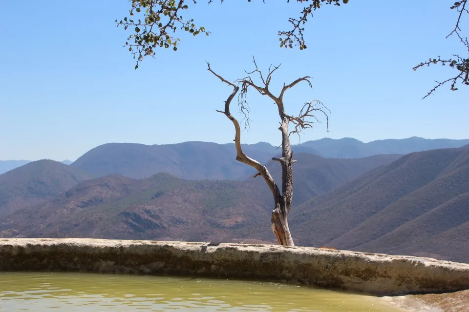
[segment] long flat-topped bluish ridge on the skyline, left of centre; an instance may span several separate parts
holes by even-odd
[[[243,146],[259,161],[277,154],[267,143]],[[164,172],[188,180],[243,179],[250,168],[236,161],[234,144],[185,142],[168,145],[109,143],[100,145],[78,158],[70,166],[93,176],[118,174],[146,178]]]

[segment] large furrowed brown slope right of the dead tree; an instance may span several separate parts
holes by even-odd
[[[469,262],[469,147],[405,155],[295,208],[298,244]]]

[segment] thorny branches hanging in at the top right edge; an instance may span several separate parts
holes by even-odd
[[[456,25],[454,26],[454,29],[451,31],[451,33],[449,33],[448,36],[446,36],[446,38],[456,34],[457,38],[467,48],[468,57],[464,58],[464,57],[459,56],[458,54],[453,54],[454,58],[441,59],[441,57],[438,56],[438,58],[436,58],[436,59],[429,58],[426,62],[421,62],[419,65],[415,66],[413,68],[414,71],[417,70],[418,68],[421,68],[421,67],[424,67],[424,66],[428,67],[431,64],[440,63],[442,66],[445,66],[445,65],[448,64],[449,67],[451,67],[452,69],[456,69],[457,71],[459,71],[459,73],[455,77],[448,78],[444,81],[436,81],[435,80],[435,82],[437,83],[436,86],[434,86],[433,89],[431,89],[426,94],[426,96],[423,97],[423,98],[428,97],[429,95],[434,93],[437,88],[441,87],[442,85],[444,85],[447,82],[451,82],[451,88],[450,88],[451,91],[458,90],[458,88],[456,87],[456,83],[458,82],[458,80],[461,80],[462,84],[469,85],[469,42],[468,42],[467,37],[462,37],[461,28],[459,27],[460,22],[461,22],[461,18],[463,16],[463,13],[464,12],[469,13],[469,11],[466,7],[467,1],[468,0],[457,1],[457,2],[454,3],[454,5],[452,5],[450,7],[451,10],[456,9],[456,11],[459,12],[459,15],[458,15],[458,19],[456,21]]]

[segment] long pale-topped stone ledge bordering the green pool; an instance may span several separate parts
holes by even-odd
[[[183,274],[399,295],[469,289],[469,264],[313,247],[0,238],[0,271]]]

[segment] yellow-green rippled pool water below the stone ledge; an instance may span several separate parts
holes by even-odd
[[[0,311],[395,312],[371,296],[277,283],[89,273],[1,273]]]

